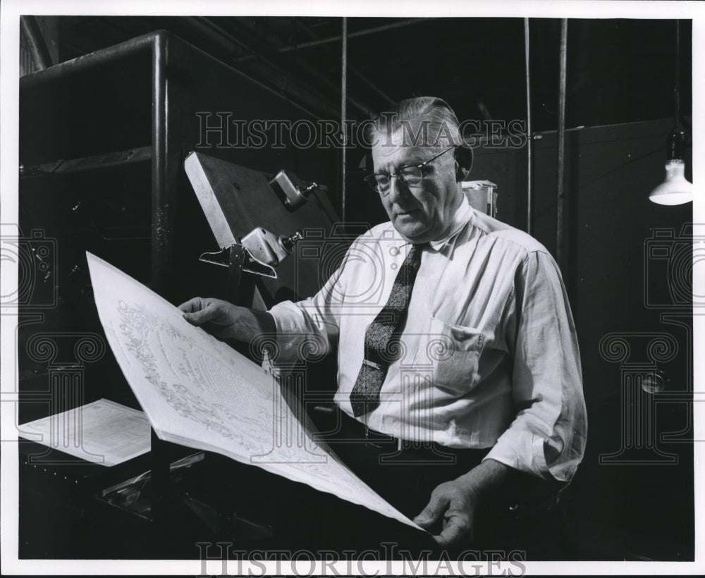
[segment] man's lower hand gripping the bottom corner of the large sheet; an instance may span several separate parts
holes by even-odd
[[[441,533],[434,536],[441,546],[458,546],[472,540],[474,514],[482,496],[502,483],[508,467],[495,460],[484,460],[453,481],[446,481],[431,493],[431,500],[414,519],[424,529],[441,520]]]

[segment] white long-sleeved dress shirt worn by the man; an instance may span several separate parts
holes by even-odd
[[[351,417],[365,329],[409,247],[382,223],[353,242],[317,295],[270,310],[276,363],[337,345],[335,400]],[[537,240],[463,197],[450,235],[422,252],[397,353],[379,407],[357,418],[370,429],[492,448],[485,459],[544,479],[575,473],[587,434],[580,354],[560,271]]]

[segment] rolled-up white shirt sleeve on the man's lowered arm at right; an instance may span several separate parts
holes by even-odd
[[[517,271],[512,397],[517,414],[485,459],[570,481],[587,438],[575,324],[558,266],[529,252]]]

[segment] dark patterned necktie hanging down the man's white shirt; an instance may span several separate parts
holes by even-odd
[[[421,264],[422,247],[424,245],[411,246],[394,280],[386,305],[364,332],[364,359],[353,391],[350,392],[350,404],[355,417],[372,412],[379,405],[379,391],[389,363],[398,354],[399,345],[395,333],[406,319],[411,290]]]

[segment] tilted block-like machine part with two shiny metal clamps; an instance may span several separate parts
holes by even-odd
[[[319,290],[317,259],[288,257],[306,233],[319,241],[329,236],[337,218],[326,187],[292,171],[270,176],[199,152],[186,157],[184,168],[221,247],[204,252],[201,260],[228,266],[227,295],[233,302],[263,309],[283,295],[306,297]],[[243,301],[239,271],[257,276],[254,300]]]

